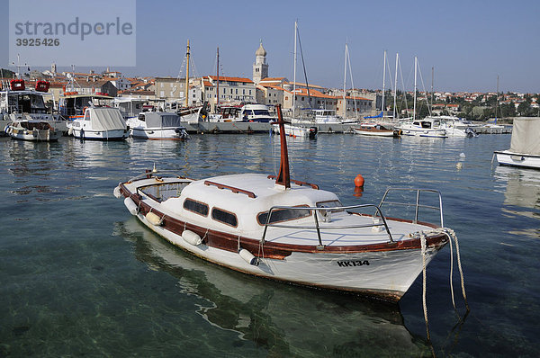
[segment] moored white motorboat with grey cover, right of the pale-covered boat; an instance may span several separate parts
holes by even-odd
[[[126,121],[130,136],[142,139],[188,139],[189,135],[175,113],[141,112]]]

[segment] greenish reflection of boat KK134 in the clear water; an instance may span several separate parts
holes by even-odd
[[[181,294],[211,327],[253,341],[269,356],[422,356],[428,345],[410,334],[397,306],[261,280],[184,253],[131,218],[115,234],[137,259],[179,280]],[[369,342],[369,345],[366,343]]]

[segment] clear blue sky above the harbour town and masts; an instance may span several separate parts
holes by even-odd
[[[6,67],[8,1],[0,2],[0,61]],[[49,3],[54,6],[54,0]],[[314,85],[343,86],[347,41],[357,88],[382,87],[386,49],[392,71],[395,54],[400,53],[409,90],[416,55],[427,89],[435,67],[436,90],[494,91],[499,75],[501,91],[539,93],[539,16],[537,0],[138,0],[137,67],[115,69],[128,76],[177,76],[189,39],[195,75],[215,74],[219,46],[222,74],[251,78],[255,51],[263,40],[269,76],[292,80],[298,20],[308,80]],[[299,62],[297,80],[303,82],[301,66]]]

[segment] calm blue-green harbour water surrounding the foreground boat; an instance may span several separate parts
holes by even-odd
[[[509,135],[289,139],[293,178],[345,204],[378,203],[389,186],[443,193],[471,312],[460,321],[452,307],[446,246],[428,266],[432,345],[421,277],[399,305],[312,291],[205,263],[133,219],[112,189],[154,163],[193,178],[279,166],[268,135],[192,137],[0,139],[0,357],[540,354],[540,173],[491,165]],[[463,317],[457,276],[455,289]]]

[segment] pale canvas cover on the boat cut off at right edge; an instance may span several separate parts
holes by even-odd
[[[540,156],[540,118],[524,117],[514,119],[510,151],[519,154]]]

